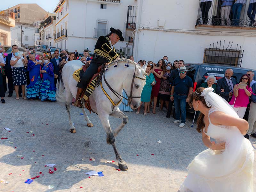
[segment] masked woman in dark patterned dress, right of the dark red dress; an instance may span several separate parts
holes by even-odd
[[[164,70],[164,75],[161,78],[160,83],[160,89],[159,89],[159,99],[161,107],[159,108],[159,111],[161,111],[164,107],[164,102],[166,104],[167,110],[169,106],[169,100],[170,100],[170,83],[169,83],[169,77],[171,76],[171,69],[172,69],[172,63],[167,63],[166,69]]]

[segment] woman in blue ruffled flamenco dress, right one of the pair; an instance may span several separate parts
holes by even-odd
[[[49,100],[56,101],[56,87],[54,85],[54,73],[53,65],[49,62],[50,54],[44,53],[44,66],[40,73],[43,74],[43,84],[40,88],[40,97],[41,101]]]

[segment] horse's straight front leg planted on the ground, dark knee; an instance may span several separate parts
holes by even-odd
[[[117,148],[116,148],[116,144],[115,144],[115,137],[112,133],[112,130],[111,130],[110,124],[109,124],[109,120],[108,120],[109,115],[106,112],[103,112],[103,113],[100,112],[98,115],[99,115],[100,121],[107,133],[107,143],[112,145],[114,152],[116,154],[116,160],[118,160],[119,168],[122,171],[126,171],[128,169],[126,162],[122,159],[122,157],[117,152]]]

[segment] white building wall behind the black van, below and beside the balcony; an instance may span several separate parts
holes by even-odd
[[[133,50],[135,60],[157,62],[166,55],[170,62],[184,60],[185,63],[202,63],[205,54],[208,54],[205,49],[209,48],[210,44],[212,48],[213,43],[215,48],[218,42],[217,48],[222,51],[234,49],[239,52],[241,46],[243,51],[239,52],[237,66],[241,61],[241,67],[256,69],[256,28],[248,26],[250,20],[246,15],[249,1],[242,9],[244,19],[240,20],[239,26],[221,26],[220,22],[214,24],[214,19],[209,19],[207,24],[202,25],[202,19],[197,20],[201,14],[200,3],[138,0]],[[213,0],[209,18],[216,18],[215,12],[218,12],[217,8],[220,7],[217,3],[217,0]]]

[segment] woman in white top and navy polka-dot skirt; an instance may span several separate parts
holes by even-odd
[[[27,99],[25,96],[25,85],[27,84],[27,76],[25,73],[25,66],[27,66],[26,63],[28,63],[28,60],[25,53],[23,53],[22,56],[19,56],[18,50],[15,50],[14,57],[12,57],[10,64],[13,67],[12,78],[17,100],[20,99],[19,85],[21,85],[22,98]]]

